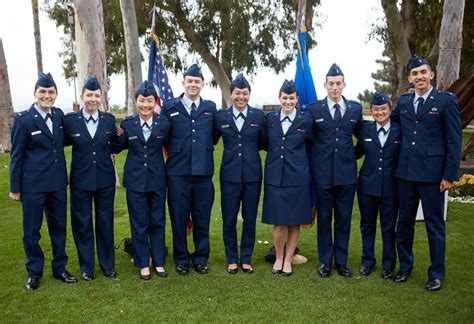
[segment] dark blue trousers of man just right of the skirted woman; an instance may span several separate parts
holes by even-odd
[[[319,263],[336,265],[347,263],[351,234],[352,204],[356,185],[315,185],[318,214]],[[334,210],[334,241],[332,236],[332,212]]]

